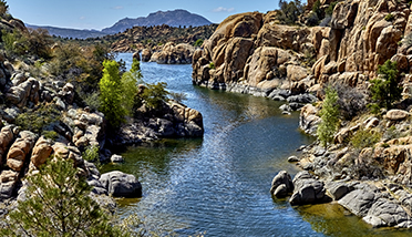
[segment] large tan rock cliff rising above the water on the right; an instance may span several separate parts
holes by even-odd
[[[194,53],[193,82],[266,93],[329,81],[362,86],[388,59],[408,74],[412,50],[400,42],[412,31],[410,12],[404,0],[348,0],[334,7],[330,27],[313,28],[280,25],[276,12],[231,16]]]

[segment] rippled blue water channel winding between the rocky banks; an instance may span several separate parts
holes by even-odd
[[[117,58],[130,68],[132,54]],[[143,185],[140,199],[120,199],[120,214],[137,213],[156,229],[182,236],[411,236],[411,231],[372,229],[339,205],[295,208],[272,199],[277,172],[298,169],[287,163],[312,138],[298,131],[299,114],[281,115],[279,103],[262,97],[192,85],[190,65],[141,63],[146,82],[167,82],[184,92],[189,107],[202,112],[203,140],[165,140],[130,147],[125,163],[106,165],[134,174]]]

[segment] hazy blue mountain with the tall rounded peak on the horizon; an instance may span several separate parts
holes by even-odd
[[[102,32],[106,34],[114,34],[124,32],[133,27],[152,27],[162,24],[167,24],[171,27],[202,27],[212,24],[212,22],[202,16],[177,9],[174,11],[157,11],[148,14],[145,18],[125,18],[117,21],[113,27],[103,29]]]

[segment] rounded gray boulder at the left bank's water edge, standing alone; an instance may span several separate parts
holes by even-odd
[[[133,175],[115,171],[102,174],[100,182],[114,197],[142,197],[142,185]]]

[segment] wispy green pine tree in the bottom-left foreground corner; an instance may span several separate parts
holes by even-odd
[[[9,214],[0,236],[124,236],[76,173],[71,159],[55,158],[29,176],[29,198]]]

